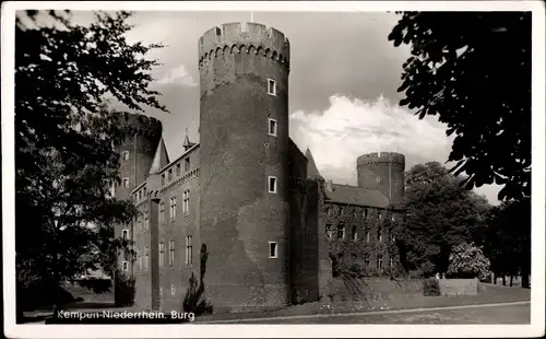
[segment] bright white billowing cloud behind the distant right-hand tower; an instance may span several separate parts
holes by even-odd
[[[418,163],[448,160],[454,136],[447,137],[446,126],[435,117],[419,120],[383,96],[363,101],[333,95],[329,102],[324,110],[290,114],[290,138],[302,151],[311,150],[329,179],[356,185],[356,159],[364,153],[403,153],[406,171]],[[498,190],[484,186],[477,192],[496,203]]]

